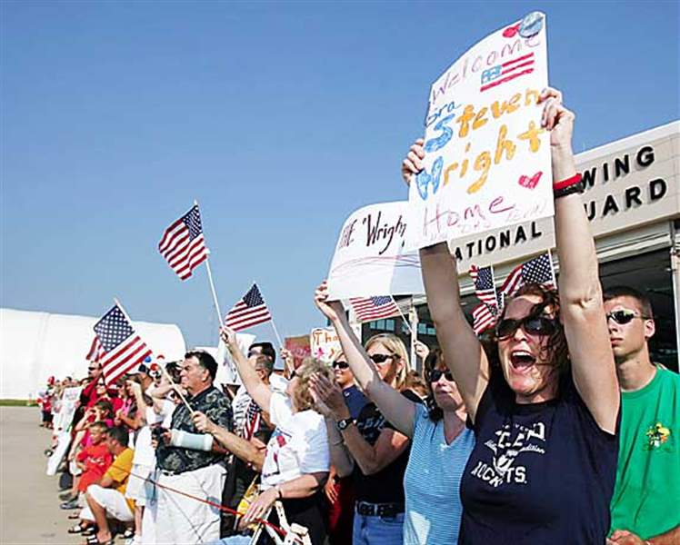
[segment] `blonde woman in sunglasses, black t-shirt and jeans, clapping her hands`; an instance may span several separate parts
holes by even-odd
[[[317,301],[318,303],[318,301]],[[335,307],[322,309],[331,322]],[[345,347],[347,353],[347,347]],[[406,389],[409,365],[404,342],[391,333],[375,335],[365,352],[375,366],[375,381],[420,401]],[[358,378],[358,377],[357,377]],[[365,384],[362,384],[365,386]],[[355,545],[401,545],[404,536],[404,473],[410,441],[385,420],[375,403],[368,403],[353,419],[342,392],[325,377],[314,377],[312,389],[328,411],[326,427],[331,438],[331,458],[340,477],[355,480]]]

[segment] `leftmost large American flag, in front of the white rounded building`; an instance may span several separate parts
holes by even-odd
[[[107,384],[135,369],[151,355],[149,347],[139,338],[117,303],[95,323],[94,329],[101,344],[99,362]]]

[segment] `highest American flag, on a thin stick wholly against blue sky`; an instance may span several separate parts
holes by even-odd
[[[182,280],[189,278],[194,269],[205,262],[208,249],[205,247],[198,204],[165,229],[158,251]]]

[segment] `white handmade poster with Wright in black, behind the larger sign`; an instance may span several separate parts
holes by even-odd
[[[371,204],[347,218],[328,272],[331,300],[425,293],[418,253],[405,251],[407,211],[405,201]]]

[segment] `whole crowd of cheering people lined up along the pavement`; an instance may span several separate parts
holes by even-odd
[[[207,352],[116,385],[92,363],[65,456],[69,531],[93,544],[115,533],[149,544],[680,543],[680,376],[650,359],[645,294],[603,292],[574,114],[555,90],[540,102],[558,291],[526,284],[480,338],[440,243],[421,250],[438,342],[419,345],[422,375],[395,334],[362,343],[325,282],[315,304],[342,345],[330,364],[296,366],[269,342],[243,353],[225,327],[240,385],[215,384]],[[417,141],[406,183],[424,157]]]

